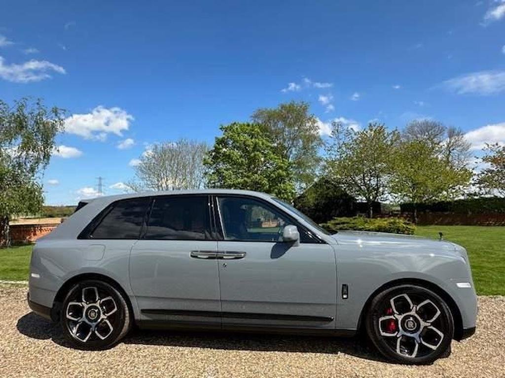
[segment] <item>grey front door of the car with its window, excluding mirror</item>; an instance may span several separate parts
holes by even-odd
[[[223,327],[335,328],[333,248],[266,201],[219,196],[217,204]],[[287,224],[297,225],[299,245],[282,241]]]

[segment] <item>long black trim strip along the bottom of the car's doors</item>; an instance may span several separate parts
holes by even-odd
[[[141,309],[142,313],[157,315],[187,316],[187,317],[209,317],[209,318],[233,318],[233,319],[264,319],[264,320],[290,320],[306,322],[332,322],[333,317],[313,317],[310,315],[290,315],[276,313],[257,312],[220,312],[220,311],[198,311],[198,310],[172,310],[172,309]]]

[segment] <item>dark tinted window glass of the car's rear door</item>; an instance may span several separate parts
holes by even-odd
[[[149,216],[145,238],[210,239],[207,196],[157,197]]]

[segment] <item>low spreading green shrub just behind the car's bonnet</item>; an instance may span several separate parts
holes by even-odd
[[[330,232],[338,230],[354,230],[354,231],[376,231],[389,232],[395,234],[412,235],[415,226],[405,219],[401,218],[334,218],[327,223],[321,224],[321,227]]]

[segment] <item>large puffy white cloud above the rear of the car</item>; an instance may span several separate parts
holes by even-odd
[[[119,107],[95,107],[91,113],[73,114],[65,119],[65,131],[86,139],[104,141],[107,134],[122,136],[128,130],[133,116]]]

